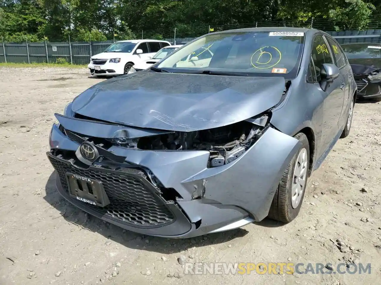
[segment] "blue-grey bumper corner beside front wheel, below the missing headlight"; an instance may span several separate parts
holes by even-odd
[[[270,127],[234,162],[205,169],[182,184],[203,184],[205,200],[241,207],[260,221],[268,215],[280,178],[300,146],[298,139]]]

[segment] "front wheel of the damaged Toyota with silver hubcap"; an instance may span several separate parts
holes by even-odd
[[[304,133],[298,133],[295,135],[295,138],[301,142],[301,147],[291,159],[280,179],[268,215],[269,218],[283,223],[291,222],[299,214],[308,178],[310,155],[308,139]],[[300,184],[301,180],[295,176],[296,169],[299,169],[299,171],[302,170],[303,179],[301,180],[304,180],[303,186]],[[294,185],[298,185],[299,187],[295,187]],[[293,188],[298,189],[298,192],[293,192]],[[295,193],[297,193],[297,195],[295,195]]]

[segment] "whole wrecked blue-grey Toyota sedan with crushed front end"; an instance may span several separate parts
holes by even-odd
[[[55,114],[47,155],[64,198],[126,230],[182,238],[287,223],[349,134],[355,98],[326,33],[210,33],[80,94]]]

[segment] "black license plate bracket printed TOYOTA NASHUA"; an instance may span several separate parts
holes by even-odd
[[[73,198],[100,207],[110,204],[101,181],[73,173],[66,173],[66,177],[69,194]]]

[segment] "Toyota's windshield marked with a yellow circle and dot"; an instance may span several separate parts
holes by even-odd
[[[295,78],[303,51],[300,32],[227,32],[205,35],[173,52],[157,68],[170,72],[223,71]]]

